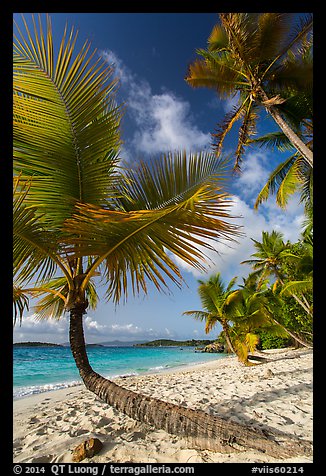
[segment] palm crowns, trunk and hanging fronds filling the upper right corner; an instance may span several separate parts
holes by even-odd
[[[293,13],[220,13],[207,49],[189,67],[187,83],[213,89],[220,98],[237,98],[212,134],[217,154],[236,123],[234,169],[240,171],[245,149],[259,145],[292,154],[273,170],[255,208],[275,194],[285,208],[300,193],[306,214],[313,206],[313,20],[293,23]],[[266,110],[280,131],[260,137],[257,122]]]

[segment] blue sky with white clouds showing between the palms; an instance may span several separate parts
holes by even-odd
[[[52,13],[54,38],[59,43],[65,23],[79,30],[79,42],[91,40],[97,54],[114,63],[120,78],[118,99],[125,103],[122,123],[124,141],[121,157],[131,166],[140,158],[158,157],[162,152],[186,149],[209,150],[216,124],[232,107],[232,100],[219,100],[212,90],[192,89],[184,81],[187,67],[196,57],[196,48],[205,48],[207,38],[218,21],[215,13]],[[20,15],[15,19],[21,25]],[[30,14],[26,14],[30,18]],[[277,126],[264,120],[258,132]],[[234,135],[226,151],[235,147]],[[207,274],[199,274],[178,261],[186,285],[181,290],[171,284],[169,294],[159,294],[149,286],[147,296],[130,297],[115,307],[101,300],[96,311],[85,317],[88,342],[173,338],[216,338],[216,327],[209,335],[204,324],[182,313],[200,309],[197,280],[221,272],[225,282],[233,276],[246,276],[249,268],[240,265],[253,253],[251,238],[260,240],[262,230],[281,231],[285,239],[296,241],[301,232],[303,207],[297,196],[286,212],[270,199],[258,212],[253,210],[257,193],[269,173],[284,160],[281,154],[263,149],[248,150],[242,174],[230,179],[234,220],[243,226],[238,243],[216,244],[219,254],[210,253]],[[104,290],[99,289],[100,297]],[[68,341],[68,316],[60,321],[36,321],[32,309],[21,327],[14,330],[14,341]]]

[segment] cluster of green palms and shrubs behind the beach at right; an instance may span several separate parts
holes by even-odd
[[[284,242],[279,232],[262,232],[253,240],[257,253],[245,260],[253,271],[234,289],[237,278],[223,284],[220,273],[199,280],[203,310],[184,315],[205,322],[206,333],[217,324],[225,341],[245,365],[258,348],[312,346],[312,238]],[[299,297],[300,296],[300,297]]]

